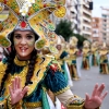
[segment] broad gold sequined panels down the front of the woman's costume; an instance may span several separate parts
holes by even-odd
[[[20,60],[17,60],[17,58],[15,58],[15,62],[16,64],[20,64]],[[39,57],[36,59],[36,64],[35,64],[35,71],[33,74],[33,77],[31,80],[31,82],[33,82],[33,84],[28,85],[28,92],[27,92],[27,96],[32,95],[37,86],[37,84],[40,82],[40,80],[44,77],[44,72],[46,72],[46,66],[49,64],[49,62],[51,61],[50,58],[46,58],[45,61],[43,61],[43,59]],[[24,62],[25,63],[25,62]],[[23,63],[23,65],[24,65]],[[19,76],[22,80],[22,87],[25,86],[25,81],[26,81],[26,74],[27,74],[27,70],[28,70],[28,65],[24,66],[23,71],[17,74],[15,73],[14,75],[9,74],[8,80],[5,82],[5,92],[4,92],[4,96],[9,95],[9,85],[11,84],[11,81],[15,77]]]

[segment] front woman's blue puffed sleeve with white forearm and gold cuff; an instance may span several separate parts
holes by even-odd
[[[66,109],[85,109],[84,99],[73,95],[60,70],[49,69],[45,77],[45,85],[59,98]]]

